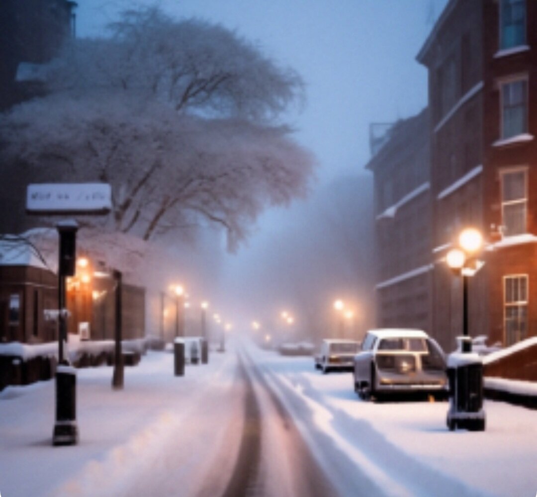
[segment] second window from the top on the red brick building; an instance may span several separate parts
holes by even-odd
[[[502,138],[511,138],[527,132],[526,79],[502,84]]]

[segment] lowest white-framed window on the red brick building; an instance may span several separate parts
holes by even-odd
[[[505,345],[524,340],[528,327],[528,276],[504,277]]]

